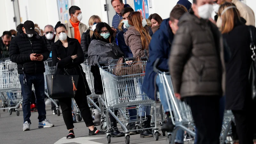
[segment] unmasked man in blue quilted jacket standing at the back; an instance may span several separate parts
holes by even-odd
[[[124,8],[130,7],[130,5],[124,4],[123,0],[111,0],[111,4],[116,11],[116,15],[114,15],[113,20],[112,20],[112,27],[114,27],[114,30],[116,31],[116,33],[118,33],[119,30],[117,29],[117,27],[118,27],[120,21],[123,20],[121,12]]]

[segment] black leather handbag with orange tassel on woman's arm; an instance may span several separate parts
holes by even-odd
[[[49,97],[52,99],[74,98],[78,84],[78,75],[70,75],[65,68],[67,75],[57,75],[58,63],[54,74],[46,75],[46,83]]]

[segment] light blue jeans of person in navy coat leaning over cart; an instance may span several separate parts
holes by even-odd
[[[156,77],[156,86],[158,87],[159,97],[160,97],[160,100],[161,100],[161,104],[163,105],[163,108],[164,108],[164,113],[170,112],[169,106],[168,106],[168,103],[167,103],[167,99],[166,99],[166,95],[165,95],[165,92],[164,92],[164,85],[163,85],[163,83],[161,83],[159,75],[157,75],[157,77]],[[171,105],[170,100],[169,100],[169,103]],[[177,134],[176,134],[176,137],[175,137],[175,142],[176,143],[184,143],[183,140],[184,140],[184,131],[179,129],[177,131]]]

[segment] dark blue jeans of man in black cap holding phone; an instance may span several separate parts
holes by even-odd
[[[35,87],[36,94],[36,105],[38,111],[38,120],[42,122],[46,119],[45,103],[44,103],[44,74],[25,74],[27,79],[27,84],[23,83],[23,74],[20,74],[20,84],[21,84],[21,93],[23,97],[22,110],[23,110],[23,120],[24,123],[30,121],[30,101],[31,101],[31,92],[32,84]]]

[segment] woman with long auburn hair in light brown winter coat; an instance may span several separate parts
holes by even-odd
[[[149,56],[148,45],[150,43],[151,37],[142,26],[143,17],[140,12],[131,12],[128,16],[129,29],[124,33],[124,40],[126,45],[128,45],[132,51],[133,57]],[[147,55],[145,53],[147,51]],[[141,85],[141,84],[140,84]],[[150,128],[150,106],[145,106],[139,109],[139,116],[141,119],[147,117],[147,121],[140,124],[141,128]],[[152,132],[145,130],[140,133],[141,137],[152,137]]]

